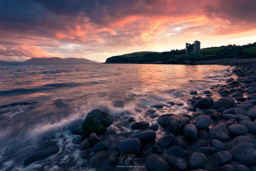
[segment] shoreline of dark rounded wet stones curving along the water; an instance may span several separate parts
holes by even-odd
[[[233,62],[236,68],[225,83],[203,93],[190,92],[189,114],[162,114],[151,125],[130,118],[119,121],[130,131],[117,131],[111,127],[117,121],[114,116],[93,110],[83,126],[71,131],[83,135],[73,143],[78,145],[85,164],[98,171],[256,171],[256,65],[250,63],[252,60],[256,59]],[[165,135],[158,138],[160,127]],[[54,148],[43,157],[32,154],[24,164],[57,152]]]

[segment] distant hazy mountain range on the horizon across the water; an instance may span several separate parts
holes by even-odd
[[[0,64],[99,64],[101,62],[91,61],[85,58],[31,58],[24,62],[6,62],[0,61]]]

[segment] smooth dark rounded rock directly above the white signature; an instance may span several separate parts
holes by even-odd
[[[138,138],[130,138],[120,142],[117,145],[118,153],[129,153],[129,154],[138,154],[142,150],[141,142]]]

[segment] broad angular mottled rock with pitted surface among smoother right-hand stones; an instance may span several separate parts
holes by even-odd
[[[210,128],[209,135],[222,140],[229,139],[229,131],[227,125],[224,123],[219,123],[216,126]]]

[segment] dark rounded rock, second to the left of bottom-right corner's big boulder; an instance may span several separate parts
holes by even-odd
[[[188,168],[191,169],[199,169],[203,167],[204,163],[206,161],[205,155],[203,153],[193,152],[191,153],[187,159],[186,163]]]

